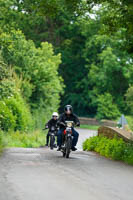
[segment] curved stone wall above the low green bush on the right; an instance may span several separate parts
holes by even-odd
[[[104,135],[108,138],[113,138],[117,135],[120,138],[123,138],[124,141],[129,142],[133,140],[133,135],[130,132],[127,132],[123,129],[113,128],[109,126],[101,126],[98,129],[98,135]]]

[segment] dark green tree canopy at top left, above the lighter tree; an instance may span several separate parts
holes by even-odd
[[[65,28],[81,13],[80,4],[80,0],[1,0],[1,27],[22,30],[37,46],[44,41],[57,46],[67,34]]]

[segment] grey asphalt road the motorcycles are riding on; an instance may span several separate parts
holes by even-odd
[[[48,148],[7,149],[0,158],[0,200],[133,200],[133,167],[92,152],[80,130],[70,159]]]

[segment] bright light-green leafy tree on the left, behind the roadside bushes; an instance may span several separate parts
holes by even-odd
[[[42,43],[40,48],[36,48],[32,41],[25,40],[20,31],[1,34],[0,43],[5,62],[12,65],[24,80],[22,91],[28,94],[31,107],[57,108],[59,93],[62,91],[61,78],[57,72],[61,61],[60,55],[54,55],[52,45]],[[26,91],[26,84],[30,91]]]

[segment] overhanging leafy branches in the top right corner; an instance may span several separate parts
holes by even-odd
[[[133,53],[133,1],[132,0],[87,0],[88,5],[97,6],[94,13],[101,21],[101,34],[112,35],[121,28],[125,28],[126,48]]]

